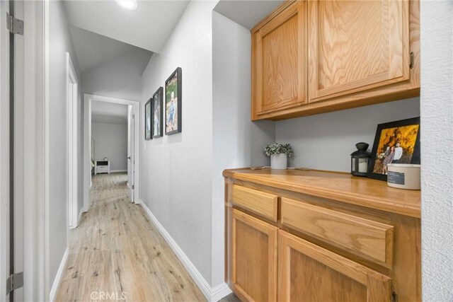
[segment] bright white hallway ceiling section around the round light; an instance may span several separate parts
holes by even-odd
[[[189,1],[137,2],[138,7],[135,11],[120,8],[114,0],[67,0],[64,1],[64,5],[69,25],[144,50],[160,52]]]

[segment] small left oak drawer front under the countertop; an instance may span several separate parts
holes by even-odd
[[[277,221],[277,195],[233,185],[231,202],[260,216]]]

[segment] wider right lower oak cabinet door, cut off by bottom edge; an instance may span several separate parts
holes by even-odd
[[[278,233],[278,301],[391,300],[389,277],[285,231]]]

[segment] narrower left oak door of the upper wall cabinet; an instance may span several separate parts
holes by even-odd
[[[306,2],[297,1],[253,33],[253,120],[306,103],[306,20]]]

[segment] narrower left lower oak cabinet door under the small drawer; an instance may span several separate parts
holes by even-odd
[[[277,301],[278,228],[232,209],[231,283],[246,301]]]

